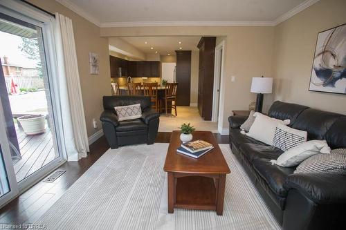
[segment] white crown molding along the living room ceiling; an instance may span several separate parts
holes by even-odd
[[[84,17],[84,19],[94,23],[100,28],[111,27],[143,27],[143,26],[276,26],[294,15],[297,15],[302,10],[305,10],[314,3],[320,0],[306,0],[298,6],[277,17],[273,21],[125,21],[125,22],[100,22],[79,6],[72,3],[70,0],[55,0],[66,6],[76,14]]]

